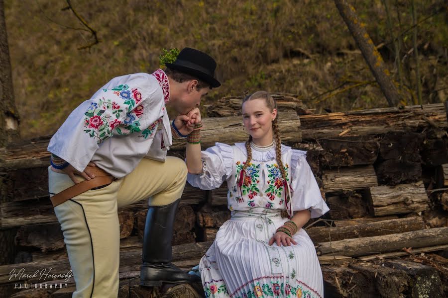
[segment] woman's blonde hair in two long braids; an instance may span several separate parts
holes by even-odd
[[[277,103],[275,102],[274,98],[266,91],[256,91],[255,93],[248,95],[244,97],[242,104],[248,100],[253,99],[264,99],[264,102],[266,103],[266,106],[270,109],[272,112],[274,109],[277,109]],[[242,107],[242,105],[241,105]],[[278,110],[277,110],[278,111]],[[282,140],[280,138],[280,130],[278,128],[278,112],[277,116],[275,117],[274,121],[272,121],[272,131],[275,139],[275,153],[276,153],[276,159],[278,166],[280,168],[280,172],[282,174],[282,178],[286,181],[287,175],[285,171],[285,167],[283,166],[282,161]],[[245,171],[250,160],[252,160],[252,148],[250,147],[250,142],[252,142],[252,136],[249,135],[249,140],[246,141],[246,150],[247,150],[247,160],[242,168],[242,171]]]

